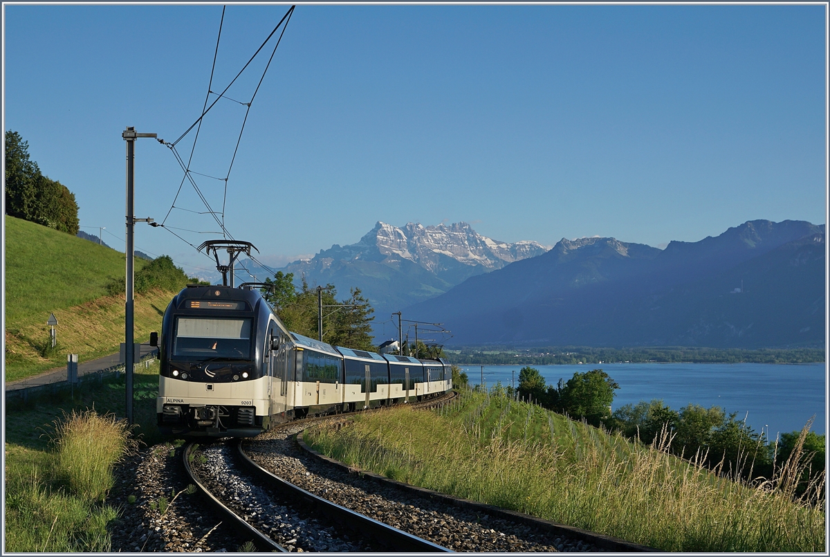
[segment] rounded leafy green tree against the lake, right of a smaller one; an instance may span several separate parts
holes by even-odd
[[[558,406],[564,413],[598,426],[611,417],[614,389],[620,386],[602,369],[592,369],[584,374],[579,372],[559,384]]]

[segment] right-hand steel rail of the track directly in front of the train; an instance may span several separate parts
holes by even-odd
[[[369,516],[351,511],[344,506],[339,506],[327,499],[315,496],[310,491],[305,491],[301,487],[295,486],[291,482],[283,480],[280,476],[276,476],[256,464],[256,462],[253,462],[251,457],[248,457],[245,449],[242,447],[242,441],[243,440],[240,439],[237,445],[239,454],[242,456],[242,460],[247,463],[248,467],[251,468],[251,471],[253,471],[257,476],[260,476],[275,491],[279,491],[292,499],[303,501],[306,505],[312,507],[321,515],[327,516],[330,520],[334,520],[346,528],[358,530],[379,545],[385,546],[388,550],[417,553],[435,551],[452,553],[452,550],[448,550],[446,547],[433,544],[431,541],[423,540],[422,538],[418,538],[408,532],[398,530],[393,526],[384,524],[383,522],[374,520],[373,518],[369,518]]]

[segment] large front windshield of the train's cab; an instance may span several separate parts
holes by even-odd
[[[251,359],[250,319],[179,317],[173,355],[210,359]]]

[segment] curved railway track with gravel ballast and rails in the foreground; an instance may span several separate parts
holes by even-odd
[[[419,405],[440,403],[442,400],[437,399]],[[114,535],[113,549],[298,552],[425,552],[445,548],[488,552],[648,550],[583,530],[552,529],[550,524],[525,520],[515,516],[516,513],[510,515],[509,511],[499,513],[492,507],[459,504],[426,490],[402,489],[379,476],[358,475],[345,467],[332,466],[298,446],[296,433],[310,423],[320,420],[343,423],[344,418],[309,418],[287,423],[245,440],[244,447],[241,442],[215,442],[195,451],[180,447],[175,450],[175,457],[172,450],[167,453],[164,447],[164,450],[155,448],[152,460],[162,461],[165,473],[175,468],[181,476],[177,486],[173,489],[167,486],[162,491],[173,495],[177,489],[183,490],[183,486],[192,483],[198,486],[197,489],[211,491],[222,501],[224,508],[213,503],[208,509],[198,495],[183,495],[170,503],[171,509],[165,519],[159,516],[158,508],[152,508],[152,501],[149,501],[149,511],[148,501],[139,501],[135,506],[144,511],[143,520],[149,522],[149,528],[141,530],[139,526],[139,531],[125,543],[116,544],[119,536]],[[182,462],[187,466],[182,466]],[[185,476],[187,467],[196,472],[195,478]],[[137,488],[137,492],[140,491]],[[128,508],[127,511],[139,509]],[[369,520],[359,515],[367,516]],[[397,530],[388,530],[389,526]],[[142,531],[143,535],[139,535]],[[623,545],[613,545],[618,542]],[[139,548],[142,543],[144,547]],[[422,545],[418,547],[417,544]]]

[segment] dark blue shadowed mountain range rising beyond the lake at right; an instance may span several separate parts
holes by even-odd
[[[824,284],[823,226],[750,221],[662,251],[563,239],[405,312],[453,344],[820,345]]]

